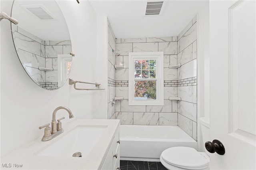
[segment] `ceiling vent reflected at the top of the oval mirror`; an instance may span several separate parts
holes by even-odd
[[[54,16],[43,4],[21,5],[41,20],[53,20]]]

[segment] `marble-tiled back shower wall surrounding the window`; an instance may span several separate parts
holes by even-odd
[[[124,97],[116,101],[116,119],[122,125],[178,125],[178,103],[169,101],[177,94],[177,69],[169,65],[177,64],[178,38],[118,38],[116,39],[116,64],[123,69],[116,69],[116,96]],[[129,52],[164,51],[164,106],[129,106],[128,105],[128,70]],[[176,84],[175,84],[176,83]]]

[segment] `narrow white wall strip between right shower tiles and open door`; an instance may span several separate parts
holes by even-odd
[[[210,116],[209,4],[198,14],[198,150],[204,152],[200,117]]]

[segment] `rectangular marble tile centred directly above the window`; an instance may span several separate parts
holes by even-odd
[[[155,52],[158,51],[158,43],[133,43],[133,52]]]

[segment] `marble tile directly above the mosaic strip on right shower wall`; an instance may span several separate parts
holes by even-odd
[[[190,77],[196,77],[196,59],[182,65],[178,69],[178,80],[187,79]]]

